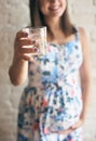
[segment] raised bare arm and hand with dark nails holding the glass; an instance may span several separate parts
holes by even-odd
[[[23,30],[18,31],[14,42],[14,57],[13,63],[9,69],[9,75],[14,86],[22,85],[27,79],[28,61],[33,61],[30,53],[35,53],[35,48],[28,48],[33,44],[32,40],[28,38],[28,34]]]

